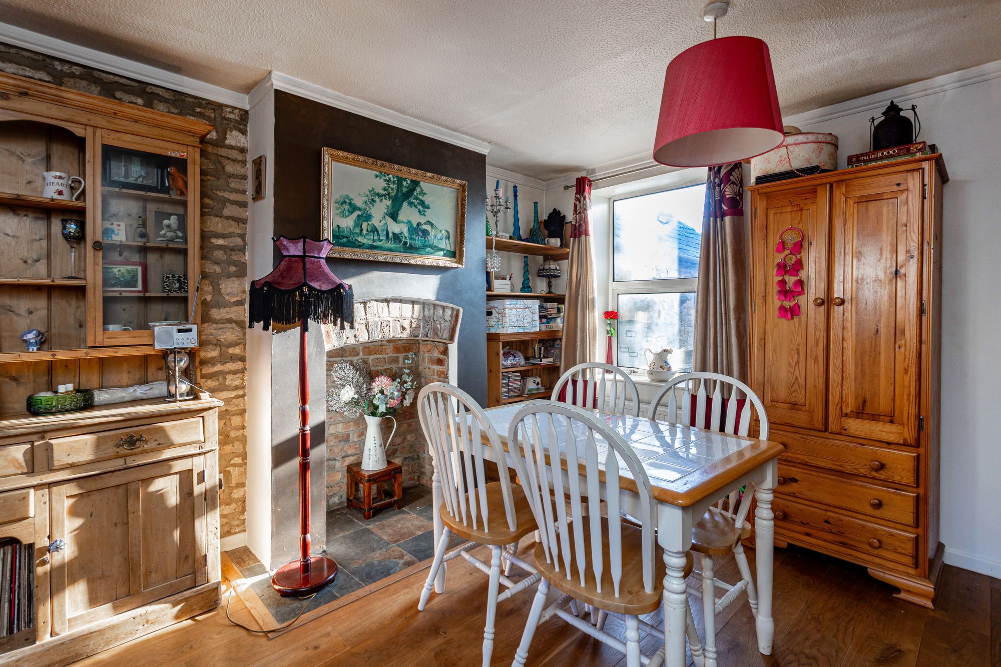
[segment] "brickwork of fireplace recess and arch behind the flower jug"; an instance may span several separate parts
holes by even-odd
[[[340,362],[359,363],[371,378],[387,375],[397,378],[406,368],[404,357],[413,355],[409,366],[419,386],[447,380],[448,346],[442,343],[421,343],[414,340],[379,341],[344,346],[326,355],[327,373]],[[334,390],[327,381],[327,395]],[[427,443],[420,433],[415,404],[401,408],[395,415],[396,433],[389,441],[386,459],[403,467],[403,486],[416,484],[429,487],[431,462]],[[346,418],[340,413],[326,413],[326,502],[333,509],[344,504],[347,489],[347,466],[361,461],[361,445],[365,438],[365,421],[362,417]],[[392,422],[384,420],[382,438],[392,433]]]

